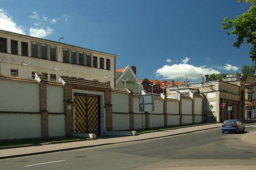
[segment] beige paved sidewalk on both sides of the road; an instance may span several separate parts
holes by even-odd
[[[44,144],[44,145],[38,145],[38,146],[32,146],[32,147],[2,149],[0,150],[0,159],[22,157],[22,156],[29,156],[29,155],[36,155],[36,154],[45,154],[45,153],[52,153],[52,152],[59,152],[59,151],[68,151],[68,150],[96,147],[100,145],[108,145],[108,144],[115,144],[115,143],[154,139],[159,137],[173,136],[173,135],[197,132],[197,131],[214,129],[214,128],[219,128],[221,130],[221,125],[222,124],[210,124],[210,125],[201,125],[201,126],[165,130],[165,131],[159,131],[159,132],[143,133],[136,136],[123,136],[123,137],[102,136],[96,140],[83,140],[83,141],[66,142],[66,143]],[[247,142],[255,143],[256,133],[254,133],[254,135],[252,133],[251,135],[247,135],[247,136],[248,137],[245,137],[245,140]]]

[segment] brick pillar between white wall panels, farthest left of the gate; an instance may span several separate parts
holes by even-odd
[[[40,112],[41,112],[41,133],[42,139],[49,137],[49,120],[47,111],[47,80],[41,78],[39,85],[40,93]]]

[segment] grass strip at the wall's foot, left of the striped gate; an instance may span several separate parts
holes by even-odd
[[[11,146],[18,146],[18,145],[41,145],[41,144],[50,144],[50,143],[57,143],[57,142],[69,142],[69,141],[80,141],[80,140],[87,140],[86,137],[65,137],[65,138],[50,138],[50,139],[27,139],[27,140],[14,140],[14,141],[1,141],[0,147],[11,147]]]

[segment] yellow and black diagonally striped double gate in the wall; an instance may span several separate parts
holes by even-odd
[[[100,135],[99,96],[74,93],[75,132]]]

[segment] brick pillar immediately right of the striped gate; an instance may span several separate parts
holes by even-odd
[[[106,107],[106,130],[113,130],[113,113],[111,104],[111,89],[105,91],[105,107]]]

